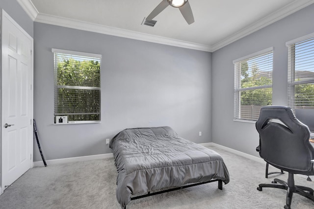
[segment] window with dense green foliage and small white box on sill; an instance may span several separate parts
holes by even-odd
[[[52,49],[54,123],[101,120],[101,55]]]

